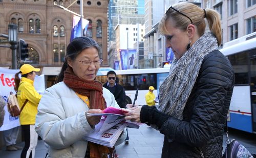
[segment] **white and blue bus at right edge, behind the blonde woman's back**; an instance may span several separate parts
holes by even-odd
[[[224,44],[220,50],[234,71],[228,127],[256,133],[256,32]]]

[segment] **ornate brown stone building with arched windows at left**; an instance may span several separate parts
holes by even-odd
[[[73,14],[58,6],[68,7],[75,0],[0,0],[0,33],[8,34],[8,24],[18,25],[18,38],[29,44],[28,62],[41,68],[45,75],[55,72],[65,60],[70,42]],[[80,1],[69,10],[80,13]],[[108,66],[108,0],[83,1],[83,16],[90,21],[84,34],[102,48],[102,66]],[[0,66],[11,66],[11,49],[0,48]]]

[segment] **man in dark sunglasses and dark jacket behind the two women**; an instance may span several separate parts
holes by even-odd
[[[117,104],[122,107],[126,108],[126,101],[125,101],[125,91],[122,85],[119,84],[119,79],[116,76],[114,71],[109,71],[106,73],[107,82],[103,84],[103,87],[110,90],[110,92],[115,96],[115,100]],[[128,129],[126,128],[127,137],[124,140],[124,144],[129,144],[129,136],[128,136]]]

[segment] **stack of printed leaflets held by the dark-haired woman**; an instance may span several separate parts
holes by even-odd
[[[114,107],[108,107],[108,108],[110,108],[111,112],[113,112]],[[117,108],[115,108],[114,110],[116,109]],[[105,110],[105,111],[108,111],[108,110]],[[119,112],[115,111],[115,113],[118,113],[118,114],[113,114],[113,113],[88,114],[91,116],[100,115],[103,117],[101,118],[100,122],[95,126],[95,129],[91,131],[86,137],[84,137],[84,139],[96,144],[100,144],[100,145],[112,148],[126,126],[129,126],[131,128],[139,128],[138,123],[125,122],[124,115],[121,115],[120,111]]]

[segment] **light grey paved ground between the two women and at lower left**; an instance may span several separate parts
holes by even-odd
[[[117,154],[119,158],[159,158],[162,153],[163,146],[163,134],[159,131],[147,127],[145,124],[141,125],[139,129],[128,128],[129,132],[129,144],[120,144],[116,146]],[[24,146],[22,142],[18,144]],[[16,158],[20,157],[22,150],[6,151],[5,148],[0,150],[0,157],[4,158]],[[35,157],[45,157],[46,147],[44,141],[38,140]]]

